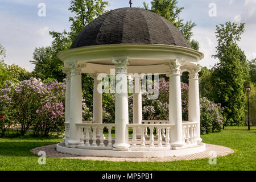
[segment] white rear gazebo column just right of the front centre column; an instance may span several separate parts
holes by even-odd
[[[133,76],[133,123],[141,124],[142,121],[142,94],[141,94],[141,77],[137,74]],[[141,128],[137,129],[137,136],[141,136]]]

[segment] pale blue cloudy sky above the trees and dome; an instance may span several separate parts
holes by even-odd
[[[144,0],[150,4],[151,0]],[[178,0],[184,7],[181,18],[197,24],[193,28],[193,39],[200,42],[200,51],[205,58],[200,64],[210,68],[217,63],[210,56],[214,54],[217,24],[230,20],[246,23],[240,47],[247,59],[256,57],[256,0]],[[128,7],[129,0],[109,0],[108,10]],[[143,0],[133,0],[133,7],[142,7]],[[46,17],[38,16],[39,3],[46,4]],[[216,5],[217,16],[209,16],[209,4]],[[70,23],[69,0],[1,0],[0,2],[0,43],[6,48],[6,64],[18,64],[32,71],[30,64],[35,47],[49,46],[52,38],[49,31],[68,30]]]

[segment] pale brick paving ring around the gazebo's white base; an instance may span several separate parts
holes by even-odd
[[[36,147],[30,150],[33,154],[38,154],[39,151],[45,151],[46,156],[49,158],[61,158],[61,159],[82,159],[82,160],[105,160],[111,162],[171,162],[176,160],[195,160],[210,158],[213,154],[217,157],[232,154],[234,151],[231,148],[218,146],[215,144],[206,144],[206,150],[204,152],[182,155],[182,156],[171,156],[164,158],[110,158],[110,157],[97,157],[97,156],[79,156],[72,154],[64,154],[56,151],[56,144],[48,146]],[[213,152],[212,152],[213,151]]]

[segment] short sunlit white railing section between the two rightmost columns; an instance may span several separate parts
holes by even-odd
[[[182,139],[187,145],[196,144],[196,128],[197,122],[183,122],[182,123]]]

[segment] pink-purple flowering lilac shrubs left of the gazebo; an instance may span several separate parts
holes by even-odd
[[[83,100],[84,119],[90,117],[89,108]],[[61,134],[65,122],[65,84],[57,81],[46,83],[36,78],[6,81],[0,89],[0,127],[2,135],[14,126],[18,134],[24,135],[29,129],[35,135],[47,136],[49,132]],[[18,130],[18,128],[20,128]]]

